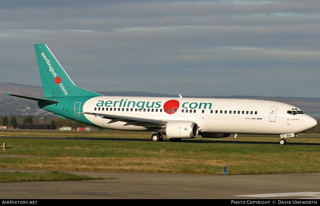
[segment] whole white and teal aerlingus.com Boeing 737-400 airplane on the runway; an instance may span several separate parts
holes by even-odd
[[[316,126],[301,109],[276,101],[103,96],[76,86],[45,44],[35,44],[44,97],[31,99],[60,118],[124,131],[150,131],[158,142],[227,138],[231,134],[280,135],[279,143]]]

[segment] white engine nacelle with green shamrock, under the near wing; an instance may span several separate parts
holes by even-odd
[[[191,139],[198,136],[198,129],[198,125],[194,122],[175,122],[161,128],[160,132],[168,138]]]

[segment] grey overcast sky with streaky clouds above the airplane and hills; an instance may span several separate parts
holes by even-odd
[[[0,82],[41,86],[47,44],[92,91],[320,97],[320,1],[0,3]]]

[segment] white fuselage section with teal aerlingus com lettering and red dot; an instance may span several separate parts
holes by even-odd
[[[287,134],[316,125],[306,114],[289,104],[254,99],[161,98],[100,96],[86,101],[83,112],[163,120],[167,123],[194,122],[200,133]],[[151,131],[143,126],[84,114],[92,123],[115,130]]]

